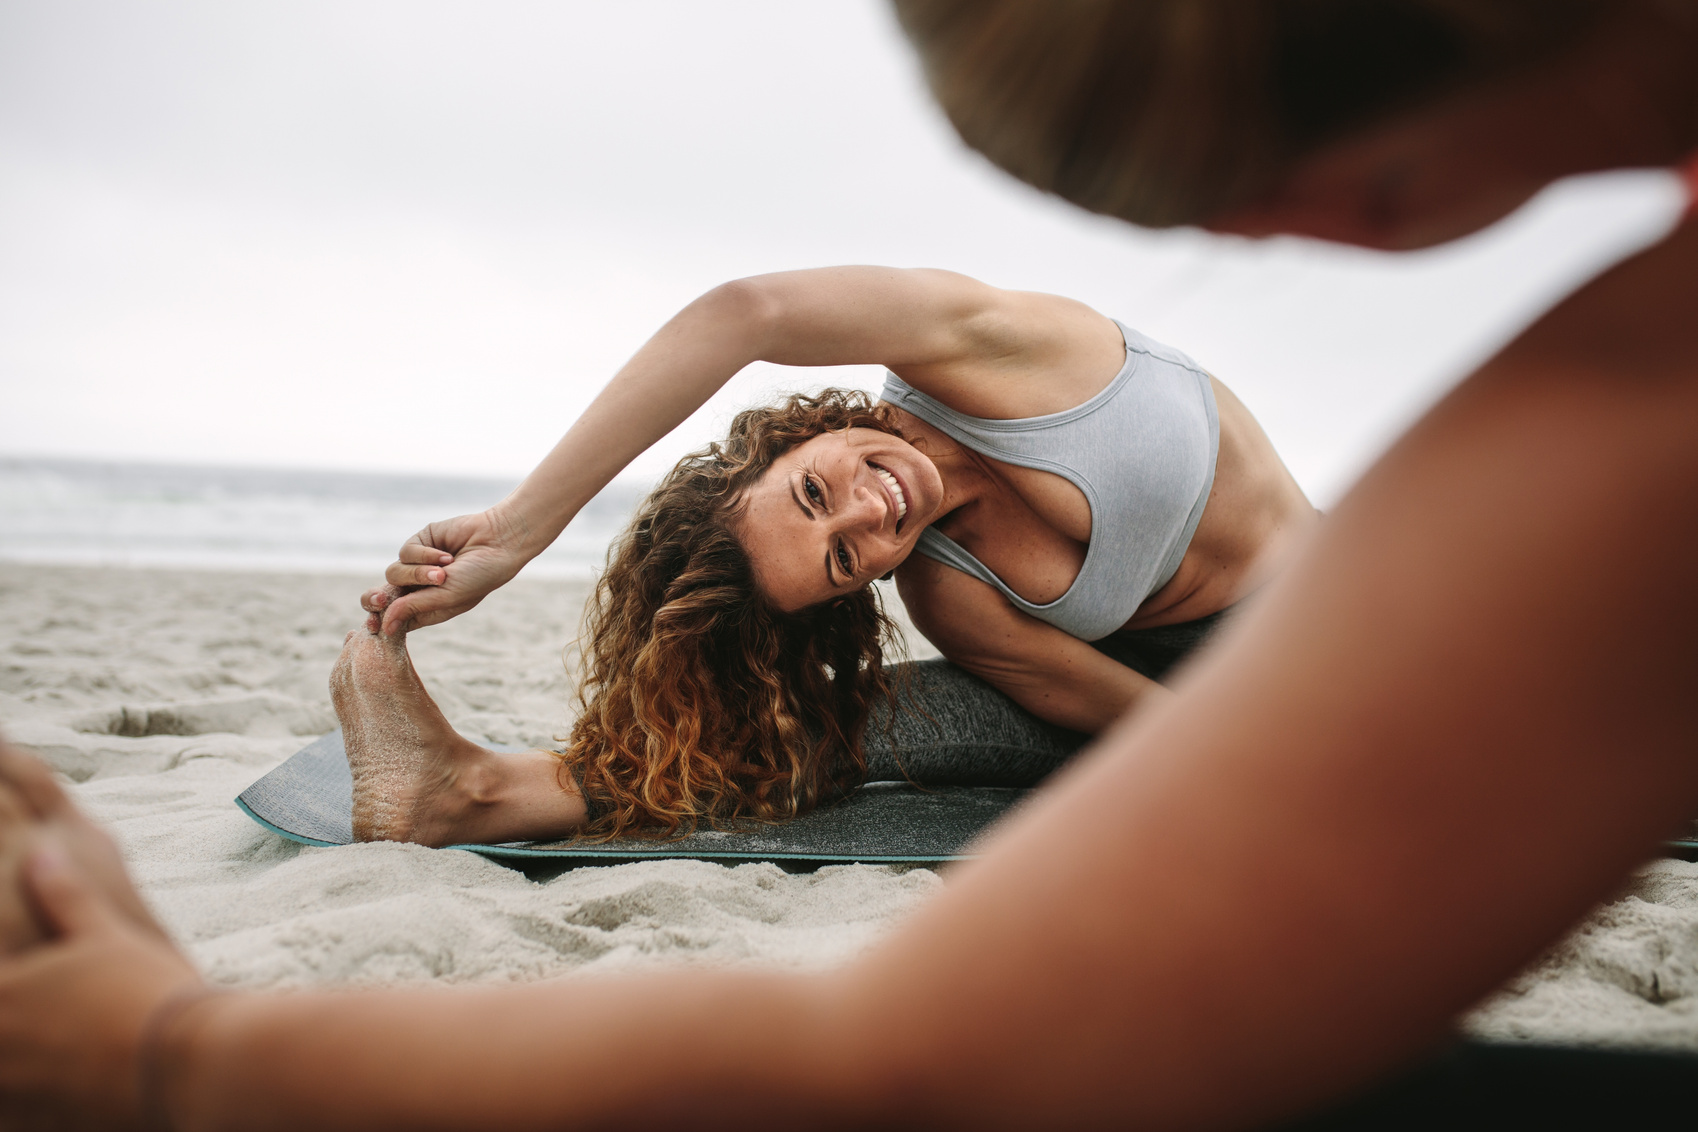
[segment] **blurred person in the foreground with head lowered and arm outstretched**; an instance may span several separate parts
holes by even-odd
[[[902,10],[975,144],[1141,222],[1421,246],[1698,148],[1690,3]],[[183,1129],[1314,1110],[1440,1042],[1698,808],[1695,311],[1695,224],[1550,311],[1172,703],[841,971],[204,996],[44,849],[56,939],[0,967],[7,1103],[146,1098]]]

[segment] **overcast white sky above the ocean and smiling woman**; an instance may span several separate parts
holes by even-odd
[[[1377,256],[1141,233],[964,151],[878,0],[7,0],[0,453],[521,474],[717,282],[947,266],[1214,370],[1330,502],[1671,178]],[[773,389],[752,367],[635,468]]]

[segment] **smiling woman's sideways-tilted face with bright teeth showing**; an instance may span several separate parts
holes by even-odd
[[[822,433],[744,496],[740,538],[761,592],[790,613],[890,574],[942,511],[937,467],[873,428]]]

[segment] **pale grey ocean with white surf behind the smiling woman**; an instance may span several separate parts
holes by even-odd
[[[514,484],[0,457],[0,558],[377,575],[426,523],[482,511]],[[645,490],[610,484],[525,575],[591,577]]]

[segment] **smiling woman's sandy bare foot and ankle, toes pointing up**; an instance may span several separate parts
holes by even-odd
[[[375,618],[374,618],[375,619]],[[465,738],[424,691],[404,633],[348,633],[329,677],[353,772],[353,838],[419,845],[564,837],[584,821],[548,752]]]

